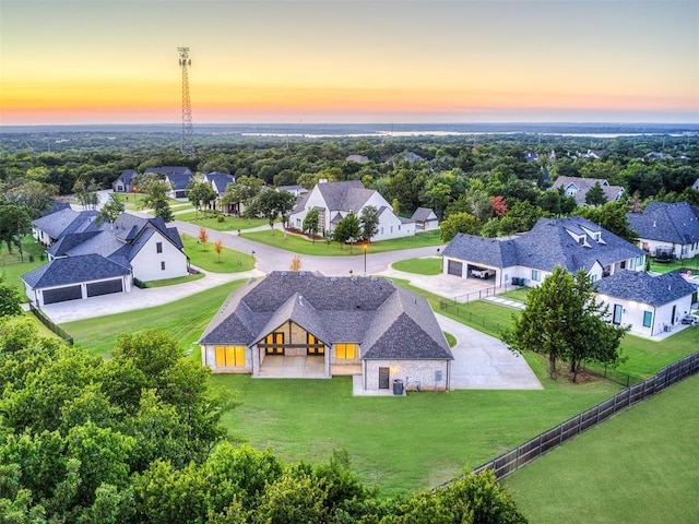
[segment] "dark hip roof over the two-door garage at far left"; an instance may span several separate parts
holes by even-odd
[[[25,273],[21,278],[29,287],[40,289],[119,277],[129,273],[131,273],[129,267],[125,267],[109,259],[98,254],[84,254],[54,259],[48,264]]]

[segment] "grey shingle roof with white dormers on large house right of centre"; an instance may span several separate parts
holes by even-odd
[[[584,245],[569,231],[583,236]],[[601,241],[591,233],[599,233]],[[550,272],[561,265],[574,273],[589,271],[595,262],[607,265],[642,255],[643,251],[587,218],[571,216],[541,218],[530,231],[514,238],[460,234],[445,248],[443,254],[495,267],[522,265]]]

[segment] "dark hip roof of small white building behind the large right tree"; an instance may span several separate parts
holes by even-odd
[[[695,286],[676,271],[652,276],[642,271],[620,271],[596,283],[597,291],[609,297],[662,306],[691,295]]]

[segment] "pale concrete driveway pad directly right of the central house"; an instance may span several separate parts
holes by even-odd
[[[452,390],[542,390],[524,357],[497,338],[437,314],[442,331],[457,337],[451,348]]]

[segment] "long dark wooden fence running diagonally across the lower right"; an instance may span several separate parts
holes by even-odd
[[[682,358],[670,366],[662,368],[654,377],[638,384],[633,384],[618,392],[611,398],[601,402],[569,418],[555,428],[537,434],[533,439],[518,445],[511,451],[501,454],[482,466],[476,467],[473,473],[481,473],[484,469],[491,469],[496,479],[502,480],[508,475],[514,473],[520,467],[529,464],[534,458],[541,456],[549,450],[569,441],[578,433],[606,420],[615,413],[619,413],[633,404],[663,391],[665,388],[679,382],[699,371],[699,352]],[[449,487],[449,480],[438,487]]]

